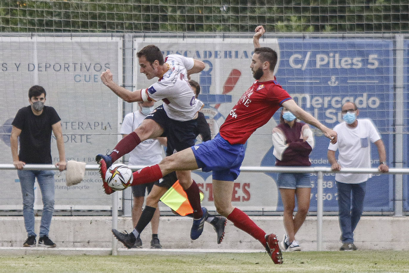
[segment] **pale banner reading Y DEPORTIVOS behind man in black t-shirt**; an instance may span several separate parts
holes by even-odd
[[[0,162],[11,164],[10,132],[18,109],[29,105],[28,90],[43,86],[45,105],[61,118],[66,160],[96,164],[97,153],[117,143],[119,102],[101,83],[100,74],[110,69],[114,81],[122,79],[122,40],[90,37],[0,37]],[[58,162],[54,135],[53,164]],[[65,171],[55,172],[55,209],[109,210],[111,198],[103,194],[97,171],[86,171],[83,182],[67,187]],[[16,170],[2,171],[0,209],[21,210],[20,180]],[[42,208],[36,183],[34,209]]]

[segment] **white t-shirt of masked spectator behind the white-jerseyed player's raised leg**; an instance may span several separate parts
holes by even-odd
[[[145,119],[139,111],[129,113],[124,117],[121,126],[121,134],[132,133]],[[129,153],[129,165],[151,166],[162,160],[162,145],[156,139],[142,141],[135,149]]]

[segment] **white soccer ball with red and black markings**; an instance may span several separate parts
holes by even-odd
[[[132,170],[124,164],[114,164],[106,170],[105,181],[113,190],[124,190],[132,184]]]

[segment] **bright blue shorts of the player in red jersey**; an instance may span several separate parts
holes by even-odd
[[[217,134],[212,140],[191,147],[196,163],[202,171],[213,171],[213,179],[234,181],[240,174],[244,159],[244,145],[231,145]]]

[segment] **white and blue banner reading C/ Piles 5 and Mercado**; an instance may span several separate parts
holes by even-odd
[[[240,96],[254,79],[249,68],[253,44],[251,39],[207,38],[135,38],[136,52],[145,45],[155,44],[168,54],[181,54],[204,61],[205,70],[191,75],[201,85],[199,99],[205,103],[202,112],[211,127],[212,137],[229,115]],[[304,110],[333,128],[342,121],[343,102],[353,101],[360,108],[360,118],[370,118],[382,135],[391,158],[393,124],[393,54],[391,41],[265,39],[262,46],[272,47],[279,54],[277,81]],[[135,52],[135,53],[136,53]],[[137,60],[137,57],[135,60]],[[135,65],[137,88],[147,88],[157,79],[147,80]],[[246,143],[243,166],[274,166],[272,129],[279,115],[258,129]],[[328,139],[317,129],[316,147],[310,159],[312,166],[327,166]],[[379,157],[372,147],[373,166]],[[242,172],[234,184],[232,201],[247,211],[283,210],[276,187],[277,174]],[[211,174],[195,171],[192,175],[205,193],[203,205],[214,208]],[[311,176],[311,210],[317,207],[317,178]],[[392,176],[375,176],[368,183],[365,210],[392,210]],[[324,210],[337,210],[334,176],[324,177]]]

